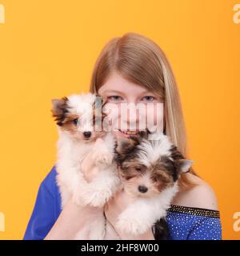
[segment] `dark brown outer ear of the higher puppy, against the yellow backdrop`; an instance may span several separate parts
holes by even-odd
[[[52,116],[55,118],[55,121],[57,122],[58,126],[62,126],[62,121],[66,117],[67,110],[67,102],[68,98],[54,98],[51,100],[52,102]]]

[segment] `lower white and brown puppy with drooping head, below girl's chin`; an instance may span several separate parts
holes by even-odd
[[[193,162],[162,133],[151,134],[151,140],[119,138],[116,151],[122,186],[135,198],[118,216],[117,227],[126,234],[143,234],[165,218],[178,178]]]

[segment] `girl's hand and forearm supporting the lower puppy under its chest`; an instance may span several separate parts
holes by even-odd
[[[122,234],[120,230],[116,228],[116,223],[118,221],[118,215],[126,209],[130,203],[134,202],[135,198],[127,194],[125,190],[118,190],[114,197],[110,198],[104,207],[105,215],[110,224],[114,227],[114,230],[118,233],[122,239],[141,239],[141,240],[154,240],[154,235],[152,230],[148,230],[145,234],[139,236],[133,236],[130,234]]]

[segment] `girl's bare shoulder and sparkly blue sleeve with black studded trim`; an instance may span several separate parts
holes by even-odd
[[[196,186],[180,190],[167,211],[170,239],[222,239],[222,223],[214,190],[193,174]]]

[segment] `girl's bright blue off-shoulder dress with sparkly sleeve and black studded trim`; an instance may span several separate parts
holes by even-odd
[[[24,239],[42,240],[61,213],[61,195],[56,168],[42,181]],[[170,240],[220,240],[222,225],[218,210],[172,205],[166,214]]]

